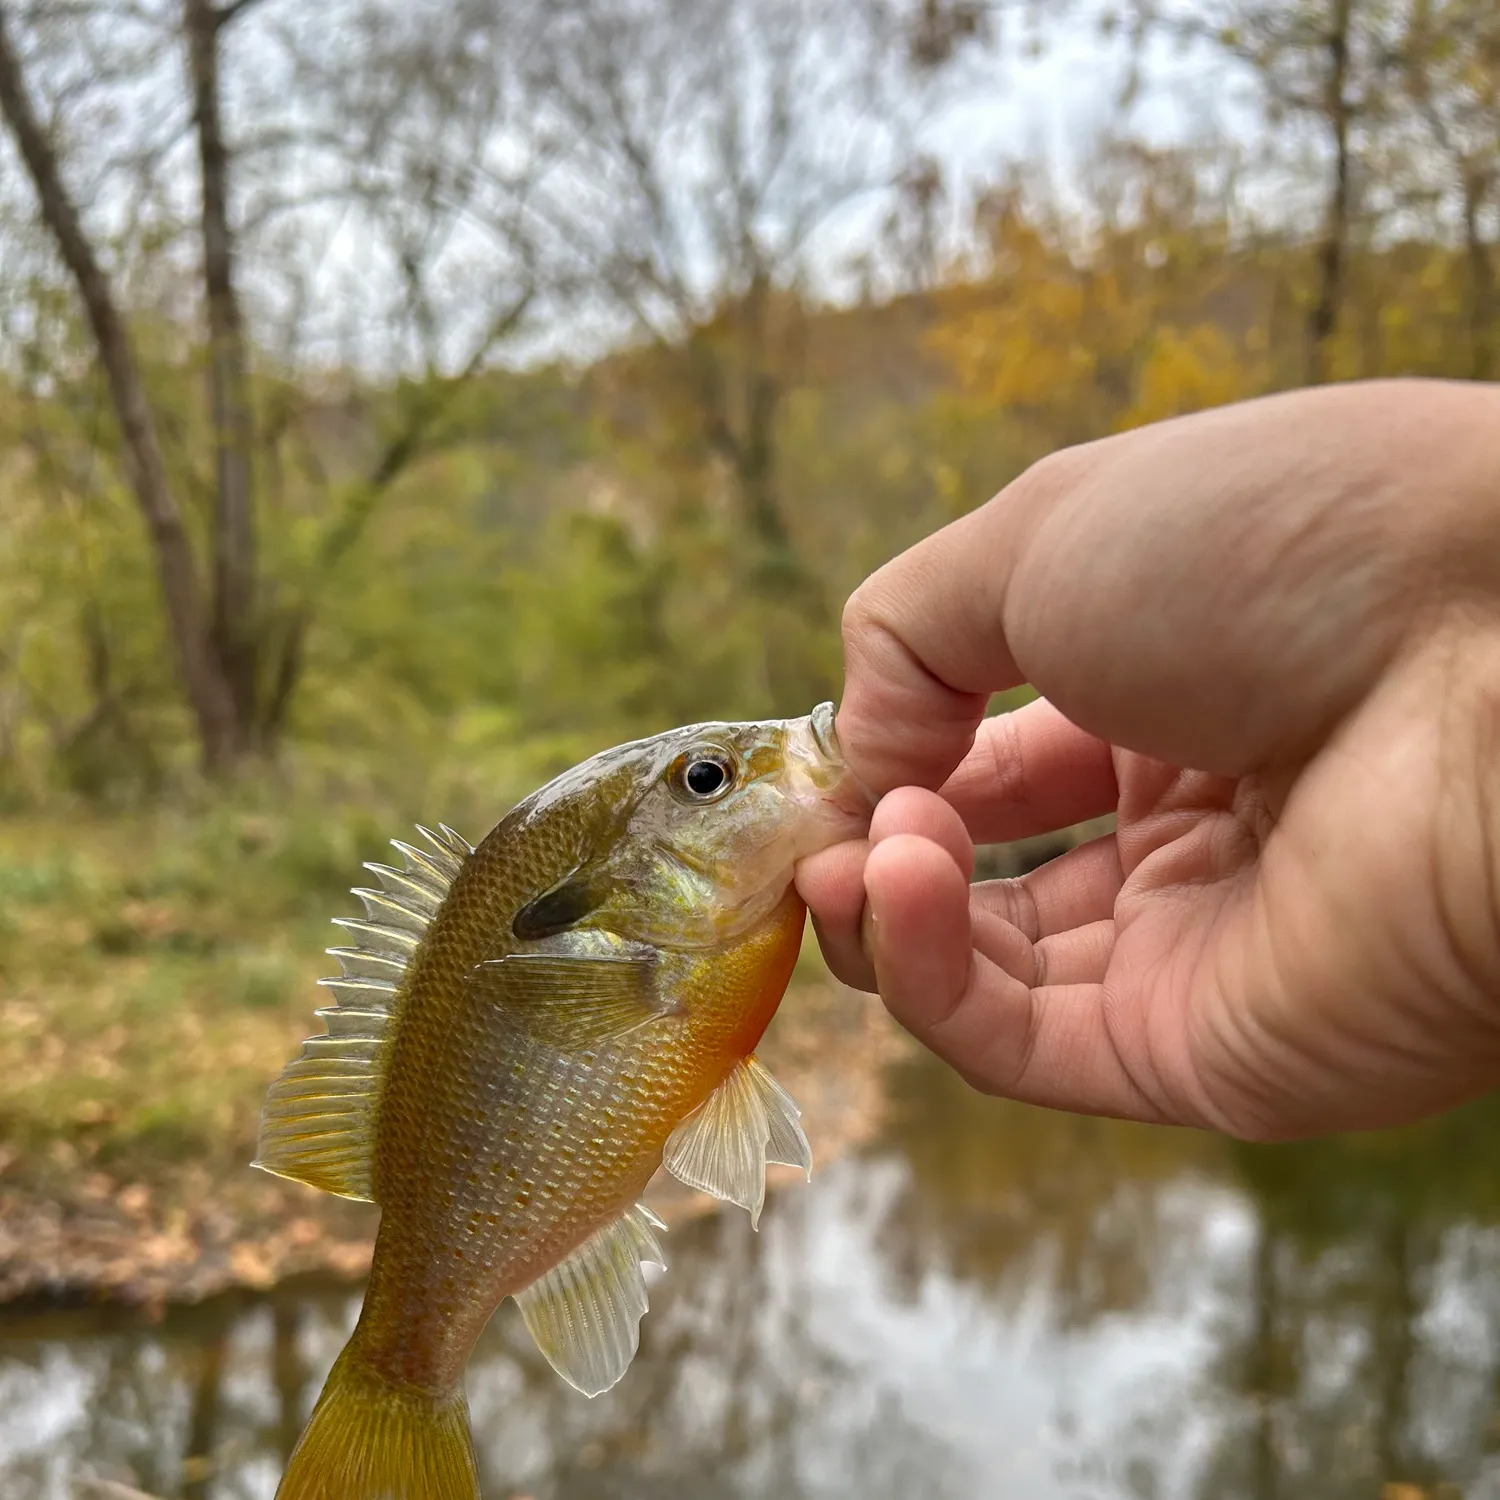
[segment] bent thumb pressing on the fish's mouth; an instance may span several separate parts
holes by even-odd
[[[1004,628],[1020,540],[1008,498],[934,531],[849,597],[838,741],[874,792],[936,790],[974,744],[990,694],[1024,681]]]

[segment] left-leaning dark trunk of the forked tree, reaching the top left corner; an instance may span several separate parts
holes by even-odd
[[[234,698],[210,639],[192,543],[166,480],[166,465],[141,369],[108,278],[63,183],[57,153],[36,116],[0,6],[0,112],[36,190],[42,220],[82,300],[124,440],[130,488],[146,518],[183,690],[198,723],[204,765],[219,770],[238,744]]]

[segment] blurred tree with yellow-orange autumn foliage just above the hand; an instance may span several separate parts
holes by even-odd
[[[1026,171],[981,200],[986,274],[950,292],[934,340],[964,399],[1016,430],[1017,465],[1272,384],[1274,278],[1236,243],[1236,166],[1113,141],[1078,204]]]

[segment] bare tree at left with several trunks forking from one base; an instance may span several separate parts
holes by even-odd
[[[274,747],[327,573],[420,454],[453,393],[514,330],[531,298],[510,242],[501,267],[494,255],[486,261],[488,292],[470,296],[466,318],[434,315],[432,285],[450,270],[452,226],[464,210],[465,183],[452,152],[466,142],[454,117],[466,111],[462,124],[482,136],[502,123],[498,87],[489,90],[486,112],[484,99],[465,92],[476,69],[456,64],[460,48],[438,45],[459,18],[429,6],[418,18],[426,30],[412,27],[410,15],[404,27],[390,27],[382,24],[384,6],[351,0],[334,16],[318,18],[336,22],[332,33],[298,16],[262,26],[237,54],[242,93],[256,72],[286,93],[278,99],[262,90],[254,128],[246,123],[244,138],[234,141],[225,106],[228,39],[238,38],[252,9],[261,9],[258,0],[0,4],[0,114],[30,182],[34,216],[84,309],[108,376],[180,687],[210,771]],[[340,36],[342,51],[330,45]],[[404,52],[392,46],[393,36]],[[114,57],[122,40],[128,64]],[[309,66],[309,57],[318,57],[318,66]],[[320,112],[330,90],[312,92],[312,80],[372,80],[376,68],[384,88],[372,81],[354,98],[345,82],[332,90],[344,116],[330,122]],[[48,92],[51,106],[44,104]],[[462,111],[450,96],[462,96]],[[150,110],[138,108],[141,98]],[[100,116],[111,118],[116,136],[100,141],[84,128]],[[183,140],[194,146],[190,165]],[[81,183],[92,190],[81,192]],[[382,374],[414,366],[416,378],[398,387],[394,420],[368,462],[352,476],[321,476],[318,540],[292,560],[284,549],[267,555],[260,534],[274,498],[268,488],[285,466],[278,450],[300,448],[304,468],[318,468],[300,430],[315,404],[274,376],[278,363],[282,374],[298,372],[303,324],[315,322],[304,315],[326,296],[322,262],[340,228],[328,208],[345,222],[363,222],[374,246],[388,254],[392,274],[374,278],[384,306],[370,321],[390,333],[381,348],[364,352]],[[195,254],[183,234],[189,219]],[[288,248],[285,236],[278,240],[288,220],[296,225],[291,254],[267,255],[248,278],[246,246]],[[34,274],[38,288],[46,286],[48,272],[44,264]],[[370,279],[368,266],[362,272]],[[140,284],[153,278],[172,290],[147,309]],[[248,280],[258,303],[254,324]],[[194,284],[195,306],[184,309],[177,288]],[[369,318],[372,298],[363,294],[360,302]],[[182,418],[174,408],[168,420],[165,392],[153,399],[159,362],[152,352],[160,340],[146,336],[148,315],[168,330],[168,363],[182,363],[184,346],[201,357],[213,454],[207,474],[192,446],[174,454],[164,441],[164,430]],[[58,376],[42,375],[48,388]],[[178,392],[171,394],[176,400]],[[208,537],[207,562],[195,544],[200,530]]]

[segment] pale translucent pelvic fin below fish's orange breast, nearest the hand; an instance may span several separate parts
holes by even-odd
[[[813,1152],[792,1095],[754,1058],[734,1071],[668,1137],[662,1166],[680,1182],[750,1210],[760,1227],[765,1164],[801,1167],[812,1178]]]

